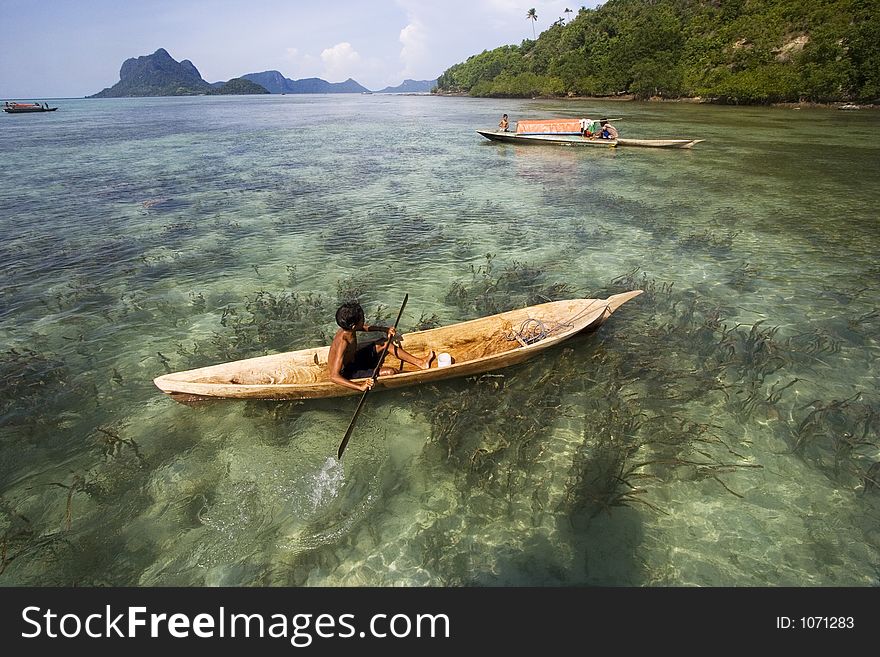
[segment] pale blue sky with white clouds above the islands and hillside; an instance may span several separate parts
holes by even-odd
[[[0,99],[80,98],[165,48],[208,82],[277,70],[378,91],[433,80],[582,7],[565,0],[0,0]],[[535,9],[538,20],[526,17]],[[570,8],[571,13],[565,13]]]

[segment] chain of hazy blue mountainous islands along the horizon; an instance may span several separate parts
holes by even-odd
[[[378,93],[428,93],[436,80],[404,80],[397,87]],[[126,59],[119,70],[119,82],[87,98],[132,98],[145,96],[205,96],[219,94],[332,94],[371,93],[349,78],[327,82],[321,78],[291,80],[279,71],[247,73],[226,82],[206,82],[188,59],[176,61],[159,48],[152,55]]]

